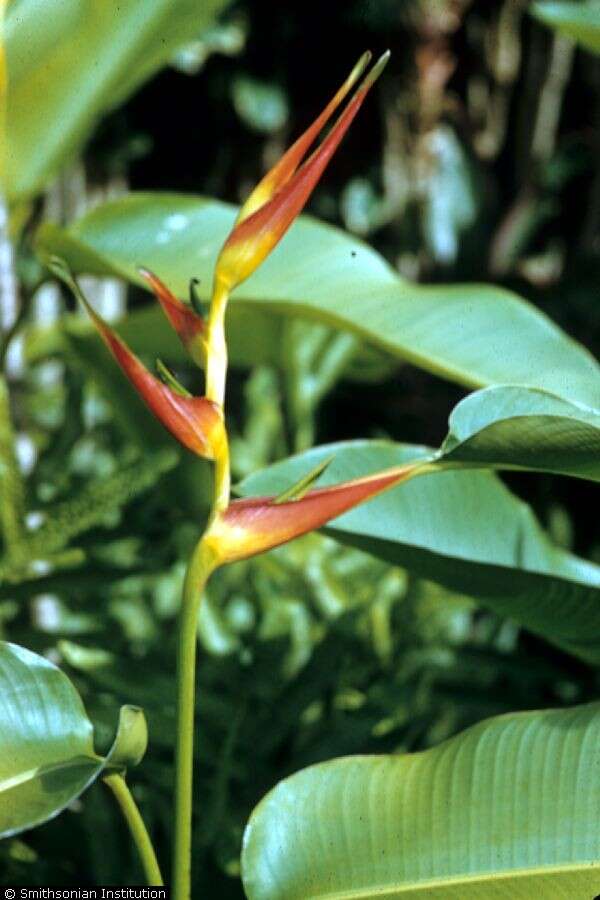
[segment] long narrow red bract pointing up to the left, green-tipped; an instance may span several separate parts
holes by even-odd
[[[183,388],[175,389],[152,375],[94,310],[62,260],[53,259],[49,265],[85,307],[104,343],[156,418],[192,453],[215,459],[224,440],[220,407],[206,397],[192,397]],[[176,384],[175,379],[172,381]]]

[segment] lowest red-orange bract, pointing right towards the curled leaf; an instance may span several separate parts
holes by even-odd
[[[425,463],[419,460],[331,487],[316,488],[297,500],[278,502],[276,497],[235,500],[214,518],[205,540],[218,565],[246,559],[321,528],[424,469]]]

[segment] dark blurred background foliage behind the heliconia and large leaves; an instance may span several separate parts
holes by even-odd
[[[416,280],[516,289],[585,346],[600,339],[600,59],[524,0],[240,0],[105,115],[33,204],[68,222],[127,189],[239,202],[365,47],[389,46],[310,212]],[[175,618],[209,473],[154,427],[24,241],[25,342],[7,365],[39,558],[1,570],[0,633],[65,666],[108,745],[146,710],[134,792],[168,855]],[[306,260],[310,266],[310,259]],[[193,274],[193,273],[190,273]],[[147,305],[88,279],[108,317]],[[485,335],[481,336],[485,340]],[[252,340],[252,335],[248,335]],[[436,445],[463,391],[325,326],[289,321],[287,364],[231,373],[235,474],[312,443]],[[169,353],[165,350],[165,358]],[[177,374],[191,375],[180,356]],[[0,435],[0,439],[5,436]],[[600,560],[584,482],[511,475],[560,545]],[[34,554],[35,555],[35,554]],[[218,573],[199,622],[198,892],[241,897],[240,839],[282,777],[348,753],[416,750],[499,712],[583,702],[584,664],[451,595],[311,535]],[[4,884],[139,883],[103,788],[0,847]]]

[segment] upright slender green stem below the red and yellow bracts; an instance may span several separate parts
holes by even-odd
[[[179,622],[173,900],[189,900],[191,897],[198,609],[202,591],[214,568],[211,552],[201,539],[185,576]]]

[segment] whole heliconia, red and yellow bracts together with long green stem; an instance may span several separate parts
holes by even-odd
[[[49,263],[86,308],[108,349],[154,415],[187,450],[214,462],[212,508],[207,527],[188,564],[179,619],[174,900],[191,898],[197,625],[208,579],[219,566],[264,553],[320,528],[427,468],[419,461],[342,484],[314,488],[326,468],[324,463],[278,497],[230,500],[229,441],[224,418],[225,316],[230,294],[261,265],[300,214],[388,57],[389,53],[385,53],[360,82],[371,59],[370,53],[364,53],[323,112],[250,194],[219,254],[206,321],[200,314],[199,304],[194,302],[193,281],[192,304],[188,306],[150,270],[139,270],[184,347],[194,362],[205,369],[204,396],[189,394],[162,363],[159,363],[159,373],[163,381],[155,377],[90,306],[64,263],[59,260]],[[327,137],[304,159],[323,126],[353,89],[353,95]],[[119,791],[121,787],[117,786]]]

